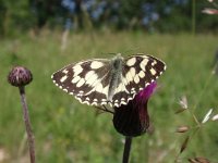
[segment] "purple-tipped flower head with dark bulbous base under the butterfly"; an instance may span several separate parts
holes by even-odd
[[[114,108],[114,128],[124,136],[136,137],[146,131],[149,126],[147,102],[157,84],[154,82],[141,90],[126,105]]]

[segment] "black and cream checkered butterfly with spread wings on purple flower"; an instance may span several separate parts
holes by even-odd
[[[123,58],[118,53],[111,60],[93,59],[69,64],[51,78],[81,103],[119,108],[155,82],[166,67],[152,55],[138,53]]]

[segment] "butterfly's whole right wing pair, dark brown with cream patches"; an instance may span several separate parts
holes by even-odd
[[[126,104],[140,90],[155,82],[165,70],[166,64],[152,55],[135,54],[126,58],[112,105],[119,108]]]

